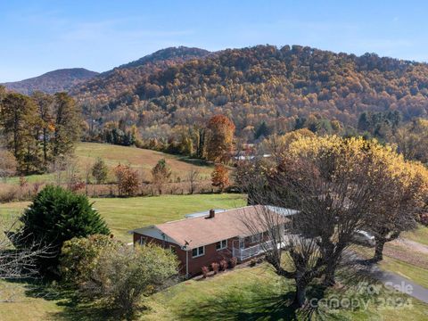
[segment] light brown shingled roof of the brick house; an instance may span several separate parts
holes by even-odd
[[[138,228],[133,232],[144,235],[149,228],[156,228],[164,235],[174,240],[178,245],[193,249],[202,245],[217,243],[235,236],[252,235],[254,230],[263,232],[266,225],[263,224],[262,211],[268,210],[272,215],[278,216],[278,222],[285,223],[287,213],[277,212],[268,206],[247,206],[234,210],[226,210],[215,214],[214,218],[199,216],[185,218],[155,226]],[[285,209],[284,209],[285,210]],[[288,214],[292,214],[290,211]],[[251,221],[251,228],[246,222]]]

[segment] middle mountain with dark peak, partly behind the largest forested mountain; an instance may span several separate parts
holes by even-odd
[[[91,101],[97,105],[108,104],[136,90],[136,86],[151,74],[166,70],[172,65],[210,55],[207,50],[185,46],[169,47],[148,54],[135,62],[123,64],[105,71],[97,77],[70,88],[70,95],[78,100]]]

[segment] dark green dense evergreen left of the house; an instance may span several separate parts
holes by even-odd
[[[59,186],[46,186],[20,218],[20,248],[41,243],[51,248],[52,255],[40,260],[40,268],[56,268],[62,244],[73,237],[110,234],[103,218],[92,208],[85,195],[72,193]]]

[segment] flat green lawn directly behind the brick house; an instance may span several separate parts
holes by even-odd
[[[241,194],[162,195],[153,197],[91,199],[105,218],[113,235],[130,242],[128,231],[138,227],[184,218],[185,214],[210,209],[241,207],[246,201]],[[29,202],[0,204],[0,216],[18,215]]]

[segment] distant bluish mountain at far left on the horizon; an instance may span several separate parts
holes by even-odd
[[[71,68],[53,70],[35,78],[7,82],[2,85],[9,90],[25,95],[29,95],[37,90],[53,94],[61,91],[68,91],[71,86],[76,86],[87,79],[94,78],[96,75],[98,75],[98,72],[86,70],[84,68]]]

